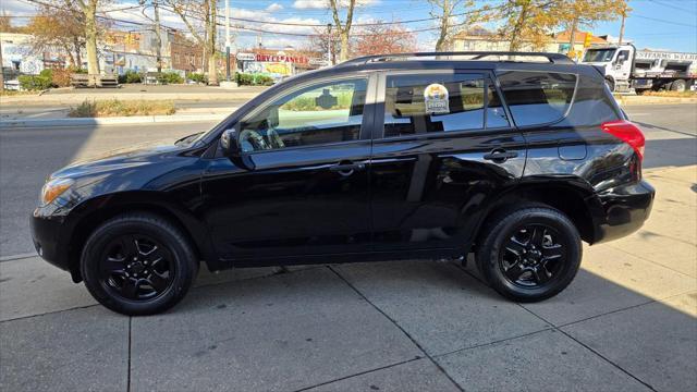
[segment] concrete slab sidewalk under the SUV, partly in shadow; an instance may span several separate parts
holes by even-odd
[[[182,304],[110,313],[36,257],[0,262],[8,391],[688,391],[697,166],[647,170],[634,235],[584,248],[557,297],[504,301],[472,262],[201,271]],[[224,385],[224,387],[223,387]]]

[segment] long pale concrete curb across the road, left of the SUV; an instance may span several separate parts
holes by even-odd
[[[134,115],[118,118],[86,118],[86,119],[42,119],[42,120],[3,120],[0,130],[24,127],[52,126],[84,126],[84,125],[120,125],[120,124],[150,124],[220,121],[229,113],[187,114],[187,115]]]

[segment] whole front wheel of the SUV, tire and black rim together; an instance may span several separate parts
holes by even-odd
[[[85,286],[101,305],[129,316],[176,305],[198,272],[192,245],[169,221],[150,213],[113,218],[89,236],[82,252]]]

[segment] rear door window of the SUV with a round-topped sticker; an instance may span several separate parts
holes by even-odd
[[[482,74],[387,76],[384,137],[481,130],[485,119],[487,127],[509,126],[501,100]]]

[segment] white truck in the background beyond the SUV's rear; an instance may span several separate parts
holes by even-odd
[[[582,62],[604,71],[611,91],[696,88],[697,53],[637,50],[631,44],[594,46],[586,50]]]

